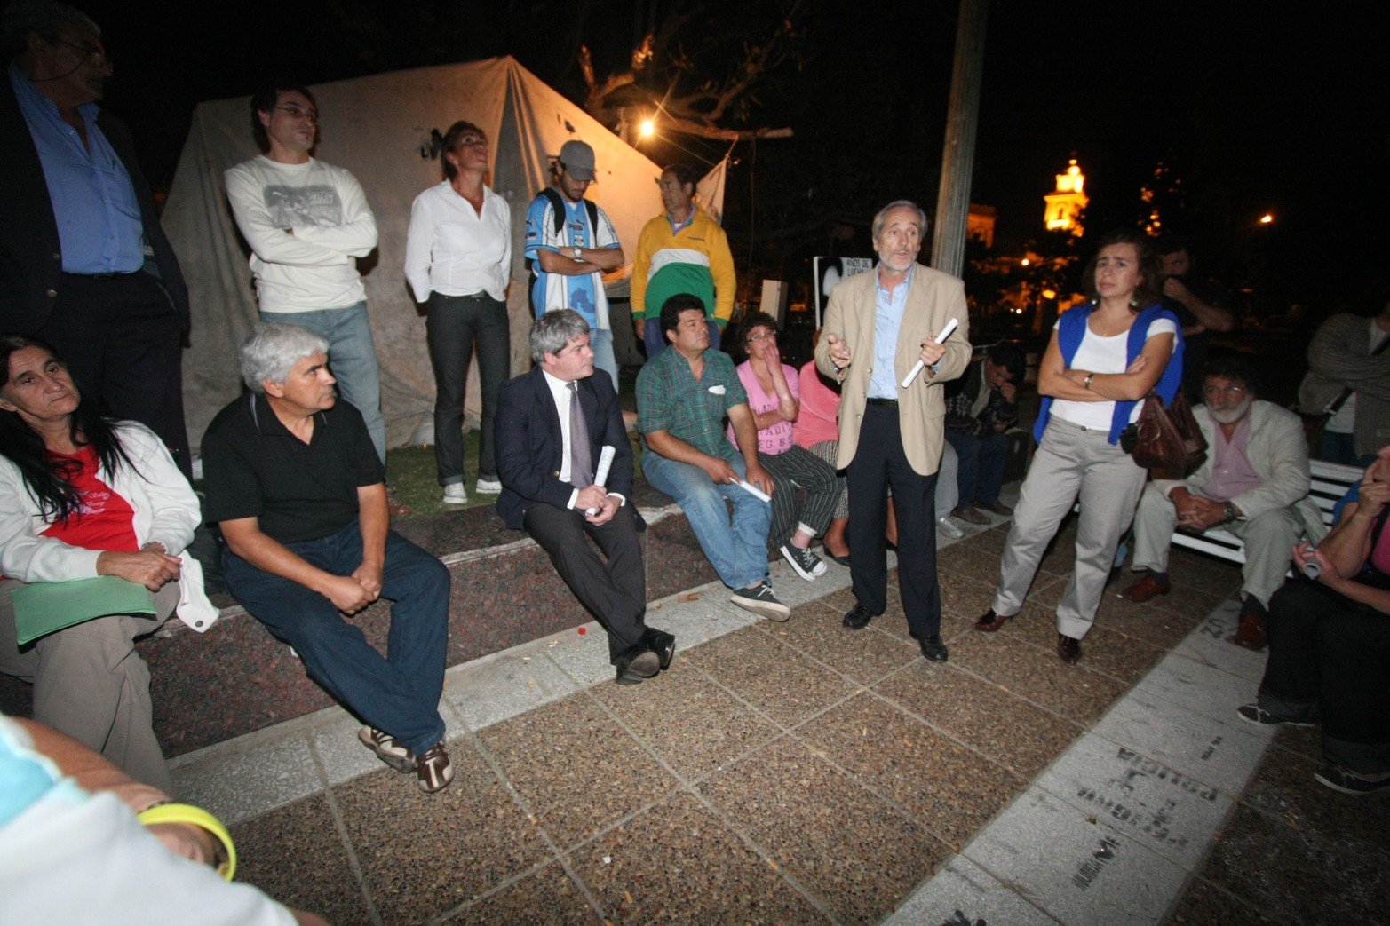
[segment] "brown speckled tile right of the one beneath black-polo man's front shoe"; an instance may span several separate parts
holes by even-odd
[[[582,692],[488,727],[480,740],[562,847],[660,799],[676,786],[656,759]]]

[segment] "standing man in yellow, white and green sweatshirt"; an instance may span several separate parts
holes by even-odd
[[[709,311],[709,346],[720,338],[734,311],[734,254],[714,217],[695,203],[696,177],[685,164],[671,164],[656,181],[660,216],[642,227],[632,259],[632,325],[651,360],[666,350],[662,306],[682,292],[699,296]]]

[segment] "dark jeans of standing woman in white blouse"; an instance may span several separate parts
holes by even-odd
[[[478,478],[498,478],[492,431],[498,396],[512,366],[512,327],[507,306],[488,293],[446,296],[430,293],[425,303],[425,342],[435,371],[435,477],[439,485],[463,482],[463,393],[473,348],[478,348]]]

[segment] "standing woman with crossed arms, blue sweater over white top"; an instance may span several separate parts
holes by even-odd
[[[1183,382],[1183,335],[1159,307],[1158,257],[1137,231],[1101,239],[1086,268],[1091,303],[1062,313],[1038,367],[1037,453],[1013,510],[994,606],[976,622],[992,633],[1019,613],[1038,560],[1077,495],[1076,569],[1056,608],[1056,653],[1081,659],[1115,559],[1144,489],[1147,471],[1120,449],[1120,431],[1156,391],[1170,402]]]

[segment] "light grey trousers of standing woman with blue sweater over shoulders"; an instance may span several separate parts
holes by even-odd
[[[1056,630],[1083,638],[1095,622],[1115,548],[1134,517],[1145,478],[1148,473],[1119,446],[1111,445],[1105,431],[1058,417],[1048,421],[1013,509],[994,612],[1019,613],[1042,552],[1080,495],[1076,567],[1056,608]]]

